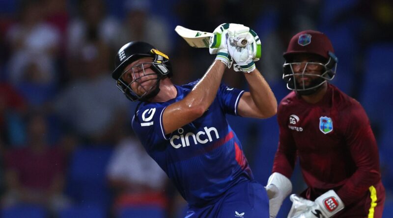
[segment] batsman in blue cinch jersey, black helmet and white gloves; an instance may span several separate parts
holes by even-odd
[[[239,39],[247,39],[247,45],[238,46]],[[117,87],[139,101],[133,130],[188,202],[187,218],[269,217],[266,190],[254,180],[225,117],[276,114],[276,98],[254,64],[260,49],[249,27],[222,24],[210,38],[215,60],[201,79],[185,85],[171,82],[169,57],[148,43],[130,42],[115,57]],[[232,61],[250,92],[221,83]]]

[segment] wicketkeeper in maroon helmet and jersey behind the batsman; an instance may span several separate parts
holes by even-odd
[[[288,218],[381,218],[385,189],[377,144],[362,105],[328,82],[338,62],[329,38],[299,32],[284,59],[283,79],[292,92],[277,112],[279,147],[266,186],[270,217],[291,193],[299,158],[308,188],[290,196]]]

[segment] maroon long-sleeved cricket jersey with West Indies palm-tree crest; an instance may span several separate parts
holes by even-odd
[[[363,107],[352,97],[331,84],[316,104],[291,92],[281,100],[277,114],[280,141],[273,172],[290,178],[299,156],[307,185],[342,186],[337,194],[345,205],[380,182],[375,137]]]

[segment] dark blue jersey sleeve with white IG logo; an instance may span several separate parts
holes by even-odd
[[[148,104],[140,107],[134,115],[133,130],[146,150],[153,149],[153,146],[164,146],[169,139],[164,133],[162,122],[165,108],[159,104]]]

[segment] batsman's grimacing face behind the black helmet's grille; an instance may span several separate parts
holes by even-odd
[[[151,69],[152,61],[152,58],[138,59],[129,64],[121,75],[122,80],[138,96],[149,93],[157,84],[158,75]]]

